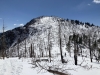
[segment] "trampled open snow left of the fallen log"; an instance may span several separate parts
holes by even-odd
[[[29,60],[18,58],[0,59],[0,75],[53,75],[39,68],[32,68]]]

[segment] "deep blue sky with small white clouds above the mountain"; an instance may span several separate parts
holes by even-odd
[[[100,0],[0,0],[0,30],[2,19],[9,30],[43,15],[100,26]]]

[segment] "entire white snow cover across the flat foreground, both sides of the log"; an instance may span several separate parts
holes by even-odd
[[[39,58],[39,59],[48,59]],[[39,61],[38,63],[45,69],[52,69],[63,72],[69,75],[100,75],[100,63],[93,60],[90,62],[89,58],[78,57],[78,65],[74,65],[73,55],[64,57],[67,63],[62,64],[60,56],[52,57],[51,63],[49,61]],[[81,64],[81,66],[79,65]],[[41,67],[34,67],[31,58],[6,58],[0,59],[0,75],[54,75]]]

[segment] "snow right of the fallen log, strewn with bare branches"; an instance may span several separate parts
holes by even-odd
[[[90,62],[89,58],[86,57],[78,57],[78,65],[74,65],[74,58],[66,56],[64,59],[67,63],[62,64],[60,61],[60,56],[53,57],[51,63],[49,62],[39,62],[41,66],[46,69],[52,69],[55,71],[59,71],[68,75],[100,75],[100,63],[93,60]],[[80,65],[81,64],[81,65]]]

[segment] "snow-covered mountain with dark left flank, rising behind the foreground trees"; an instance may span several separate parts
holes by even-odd
[[[59,26],[61,29],[63,47],[68,42],[69,36],[73,35],[73,33],[79,34],[80,36],[82,36],[82,34],[87,36],[91,34],[91,38],[94,38],[94,35],[96,35],[96,39],[99,39],[100,37],[100,27],[88,23],[77,23],[76,21],[59,17],[41,16],[32,19],[23,27],[7,31],[5,33],[7,40],[6,45],[10,52],[12,52],[14,56],[17,56],[18,43],[20,55],[25,52],[25,44],[27,45],[26,49],[28,55],[31,44],[34,44],[36,55],[40,55],[37,54],[39,53],[40,48],[41,50],[47,50],[49,36],[50,42],[52,43],[52,50],[55,51],[54,47],[59,47]],[[0,43],[0,45],[2,44]],[[59,48],[56,49],[56,51],[59,52]],[[46,55],[46,52],[44,55]]]

